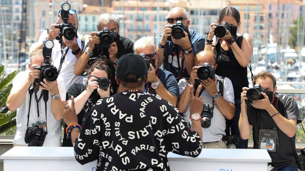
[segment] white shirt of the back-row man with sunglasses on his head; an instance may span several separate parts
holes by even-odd
[[[46,37],[48,36],[48,32],[47,30],[44,30],[42,32],[42,34],[40,35],[39,39],[38,39],[38,44],[37,45],[41,45],[43,40],[46,39]],[[77,32],[77,44],[80,48],[82,48],[81,46],[81,38],[82,38],[83,35],[79,34]],[[89,42],[89,37],[88,36],[85,36],[86,39],[85,39],[85,42],[84,42],[84,48],[86,46],[86,44]],[[60,43],[58,40],[54,40],[54,47],[52,48],[52,61],[54,63],[54,66],[56,66],[56,68],[58,69],[59,68],[59,64],[60,64],[60,60],[61,60],[61,46],[60,46]],[[36,47],[37,47],[36,45]],[[35,47],[35,48],[36,48]],[[66,50],[67,50],[68,47],[65,47],[63,50],[62,50],[62,53],[65,54]],[[33,48],[34,49],[34,48]],[[84,49],[81,49],[81,51],[84,51]],[[30,51],[31,53],[31,51]],[[65,87],[66,87],[66,90],[69,89],[69,87],[73,84],[73,83],[83,83],[83,77],[82,76],[76,76],[74,73],[73,73],[73,70],[74,70],[74,65],[76,63],[77,59],[76,57],[72,54],[72,49],[69,49],[66,57],[65,57],[65,60],[64,62],[62,63],[62,66],[61,66],[61,71],[59,73],[59,75],[65,80]]]

